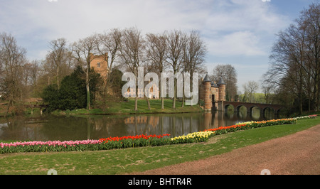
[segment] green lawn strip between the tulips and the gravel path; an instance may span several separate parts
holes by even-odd
[[[13,153],[0,155],[0,174],[123,174],[169,166],[232,151],[293,134],[320,123],[320,118],[297,124],[267,126],[213,136],[206,143],[124,148],[109,151]]]

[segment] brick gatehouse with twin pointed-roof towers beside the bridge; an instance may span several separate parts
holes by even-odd
[[[205,111],[222,110],[225,101],[225,82],[220,78],[216,84],[212,82],[207,73],[200,85],[200,99],[204,101]]]

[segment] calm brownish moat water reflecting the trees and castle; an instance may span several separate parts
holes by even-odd
[[[269,117],[267,117],[269,116]],[[192,114],[147,114],[90,117],[16,117],[0,120],[0,140],[53,141],[101,139],[109,136],[171,134],[172,137],[242,121],[273,119],[260,116],[259,109]]]

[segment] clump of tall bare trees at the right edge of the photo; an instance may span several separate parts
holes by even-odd
[[[320,86],[320,4],[311,4],[286,30],[280,31],[272,48],[270,69],[265,82],[272,83],[277,91],[286,90],[297,102],[302,114],[304,102],[319,107]],[[280,92],[284,94],[284,92]],[[292,102],[293,104],[294,102]]]

